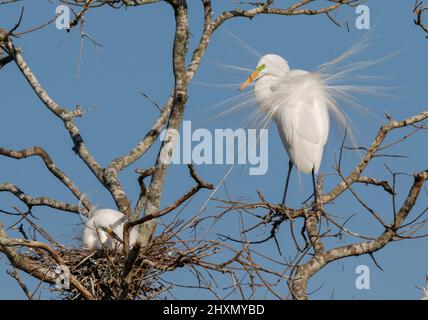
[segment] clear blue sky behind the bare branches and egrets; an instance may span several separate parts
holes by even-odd
[[[223,3],[215,6],[215,14],[225,8],[233,8],[232,1],[214,1]],[[282,2],[282,1],[277,1]],[[286,1],[291,3],[292,1]],[[22,1],[25,15],[21,30],[33,27],[51,18],[55,4],[48,1]],[[202,22],[200,1],[189,1],[190,26],[192,37],[190,49],[195,47],[199,38]],[[19,16],[20,3],[0,7],[2,28],[12,26]],[[367,119],[366,116],[350,112],[359,129],[357,136],[362,145],[373,139],[377,128],[388,112],[396,119],[414,115],[427,109],[428,92],[426,63],[428,42],[413,24],[412,1],[369,1],[371,9],[373,37],[372,45],[357,59],[374,59],[401,50],[398,55],[382,64],[370,67],[365,74],[383,76],[371,82],[393,89],[389,96],[359,97],[360,103],[378,115],[379,119]],[[225,24],[226,28],[261,54],[277,53],[284,56],[291,68],[315,70],[316,67],[338,56],[355,44],[366,31],[353,27],[356,15],[353,10],[342,9],[338,13],[339,21],[349,21],[350,32],[346,28],[334,25],[326,16],[263,16],[253,20],[235,19]],[[89,149],[96,159],[106,165],[112,158],[127,152],[146,132],[156,119],[157,109],[145,100],[139,91],[143,91],[159,104],[167,99],[171,92],[173,78],[171,72],[171,44],[174,21],[172,11],[166,4],[156,4],[128,10],[101,8],[89,11],[85,23],[86,32],[103,45],[100,54],[92,43],[85,40],[80,77],[77,78],[79,57],[79,33],[70,34],[55,29],[50,25],[42,31],[16,39],[16,44],[23,49],[28,64],[44,84],[51,96],[62,106],[73,107],[80,104],[92,108],[83,119],[77,120]],[[220,68],[209,61],[253,68],[258,60],[227,33],[219,30],[212,38],[210,47],[204,57],[202,66],[195,80],[204,83],[229,84],[242,82],[247,73]],[[62,123],[48,112],[31,91],[16,66],[8,65],[0,71],[1,117],[0,145],[2,147],[21,149],[33,145],[43,146],[58,166],[83,190],[88,192],[91,200],[100,207],[113,207],[114,204],[89,170],[71,150],[71,141],[62,127]],[[246,114],[238,113],[209,122],[203,121],[216,113],[230,108],[224,105],[207,110],[224,99],[237,94],[236,87],[206,86],[192,84],[190,99],[185,113],[186,120],[192,120],[194,128],[239,128],[246,125]],[[247,168],[235,169],[228,179],[229,191],[234,197],[247,196],[256,199],[256,190],[263,191],[272,202],[280,200],[288,162],[276,129],[271,126],[269,133],[269,171],[264,176],[249,176]],[[403,131],[404,132],[404,131]],[[395,134],[393,137],[397,138]],[[331,136],[323,158],[320,172],[331,173],[333,154],[340,138]],[[426,133],[420,133],[390,152],[407,155],[404,159],[376,159],[369,169],[369,174],[379,178],[390,178],[384,163],[397,170],[408,173],[427,168]],[[158,145],[156,145],[158,146]],[[152,164],[157,148],[121,174],[121,179],[131,198],[136,199],[138,185],[133,170]],[[344,170],[349,172],[357,157],[346,154]],[[207,181],[217,183],[224,175],[227,166],[206,165],[198,168],[200,175]],[[297,206],[311,190],[309,176],[292,178],[295,188],[289,194],[289,205]],[[299,182],[300,180],[300,182]],[[0,182],[13,182],[25,192],[34,196],[49,195],[53,198],[74,202],[74,198],[46,170],[40,160],[11,160],[0,158]],[[334,183],[328,180],[326,187]],[[398,201],[407,194],[411,180],[400,177]],[[162,205],[167,205],[179,197],[184,188],[192,185],[185,166],[171,167]],[[381,212],[383,217],[391,218],[391,201],[383,193],[373,188],[359,186],[356,188],[369,205]],[[195,198],[183,213],[190,217],[206,199],[203,192]],[[224,196],[220,191],[218,196]],[[412,216],[426,207],[427,195],[422,195]],[[400,202],[399,202],[400,203]],[[11,209],[13,205],[22,207],[10,195],[0,193],[0,207]],[[357,214],[348,225],[349,228],[369,235],[376,235],[381,228],[376,221],[364,211],[350,195],[345,195],[329,208],[331,213],[349,217]],[[418,211],[419,210],[419,211]],[[58,240],[76,245],[73,237],[80,234],[80,220],[73,214],[62,213],[46,208],[35,208],[34,214],[40,223]],[[208,213],[215,213],[214,204]],[[6,226],[12,223],[9,217],[1,216]],[[265,234],[259,232],[254,239],[261,239]],[[225,219],[216,226],[215,232],[237,235],[236,216]],[[288,236],[289,228],[284,224],[280,228],[279,240],[285,256],[292,253],[292,242]],[[18,236],[9,232],[10,236]],[[350,258],[330,264],[310,282],[310,290],[322,286],[311,297],[329,299],[334,296],[341,299],[417,299],[421,292],[415,285],[423,285],[428,273],[428,255],[426,239],[401,241],[388,245],[376,253],[377,261],[384,271],[375,267],[370,257]],[[341,242],[343,244],[346,242]],[[329,244],[338,244],[337,242]],[[271,256],[278,256],[273,242],[260,245]],[[371,289],[357,290],[354,285],[355,268],[366,264],[371,270]],[[18,285],[5,270],[9,269],[5,257],[0,257],[0,298],[24,298]],[[186,281],[188,275],[178,272],[175,280]],[[31,283],[34,287],[35,283]],[[228,286],[229,278],[220,278],[220,286]],[[285,290],[285,288],[284,288]],[[283,290],[283,291],[284,291]],[[195,294],[194,291],[179,291],[180,298],[209,298],[206,292]],[[46,296],[45,296],[46,297]],[[260,293],[259,298],[264,295]],[[267,296],[270,298],[271,296]]]

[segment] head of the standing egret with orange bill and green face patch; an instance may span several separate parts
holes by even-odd
[[[257,81],[265,76],[282,78],[288,71],[290,71],[290,67],[285,59],[277,54],[264,55],[257,63],[256,70],[254,70],[247,80],[239,87],[239,90],[244,90],[251,82]]]

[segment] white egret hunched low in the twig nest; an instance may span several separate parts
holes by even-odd
[[[90,249],[122,249],[123,226],[127,217],[116,210],[99,209],[93,212],[83,228],[83,245]],[[138,239],[138,227],[129,233],[129,246]]]

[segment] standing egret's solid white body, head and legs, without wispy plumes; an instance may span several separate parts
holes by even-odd
[[[290,70],[288,62],[276,54],[263,56],[256,70],[239,88],[255,81],[254,93],[266,118],[276,122],[289,156],[282,204],[285,204],[293,164],[312,173],[315,203],[315,174],[318,173],[329,132],[329,107],[335,102],[320,73]]]

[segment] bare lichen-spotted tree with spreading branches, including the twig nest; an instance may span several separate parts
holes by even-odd
[[[0,4],[12,2],[15,1],[3,1]],[[16,215],[18,219],[15,223],[16,226],[21,222],[26,222],[33,229],[34,235],[43,238],[43,240],[37,240],[36,236],[28,237],[22,228],[20,229],[22,238],[10,238],[3,224],[0,223],[0,251],[8,258],[13,268],[10,275],[16,279],[29,299],[34,298],[34,294],[22,281],[18,270],[39,279],[41,282],[55,284],[58,279],[58,274],[54,271],[55,266],[69,270],[71,288],[63,291],[64,297],[68,299],[153,299],[171,291],[174,287],[180,286],[180,284],[171,281],[168,274],[181,267],[188,268],[189,272],[198,279],[199,288],[209,290],[218,298],[220,295],[209,279],[215,278],[216,275],[226,275],[231,283],[226,290],[229,292],[226,297],[229,294],[237,293],[243,299],[252,298],[256,290],[263,287],[279,299],[289,297],[307,299],[308,281],[329,263],[364,254],[373,257],[373,253],[381,250],[392,241],[425,236],[419,234],[419,231],[428,221],[426,218],[428,207],[414,218],[410,218],[410,214],[421,197],[424,183],[428,180],[428,171],[414,172],[409,175],[409,178],[412,179],[410,188],[407,191],[399,191],[407,193],[406,199],[401,204],[396,201],[398,188],[395,179],[400,173],[391,170],[392,182],[389,182],[366,176],[365,171],[374,158],[384,156],[382,154],[384,150],[426,129],[424,121],[428,118],[428,111],[400,121],[388,117],[387,123],[379,129],[373,143],[369,147],[360,148],[364,154],[349,173],[343,172],[341,168],[342,153],[347,150],[343,144],[339,157],[336,159],[337,184],[332,189],[325,191],[323,187],[325,177],[321,175],[317,182],[318,202],[302,205],[300,208],[288,208],[270,203],[261,193],[259,193],[260,201],[255,203],[242,199],[232,199],[232,197],[214,199],[213,201],[218,202],[220,209],[216,215],[201,217],[197,214],[190,221],[173,220],[168,225],[160,225],[161,231],[156,236],[155,229],[160,223],[160,217],[174,213],[179,208],[184,209],[184,203],[201,189],[213,189],[214,186],[199,177],[196,169],[190,165],[189,175],[195,182],[195,186],[187,192],[183,191],[183,195],[171,205],[160,208],[162,193],[165,188],[165,177],[169,167],[167,163],[171,160],[172,150],[175,146],[175,140],[172,137],[162,141],[152,167],[138,170],[140,194],[138,199],[135,199],[135,206],[131,205],[132,201],[119,179],[121,171],[146,155],[147,151],[159,139],[164,128],[177,131],[180,129],[189,97],[189,83],[198,71],[212,35],[226,21],[235,18],[251,19],[257,15],[325,14],[332,19],[330,13],[339,10],[341,7],[356,6],[361,1],[330,0],[324,7],[316,7],[317,3],[314,3],[313,0],[301,0],[289,7],[274,7],[278,1],[266,0],[243,3],[241,4],[242,8],[224,11],[215,16],[211,0],[202,0],[204,10],[202,36],[197,48],[191,54],[188,53],[188,39],[191,31],[185,0],[69,0],[62,2],[76,8],[70,28],[80,26],[82,36],[85,14],[99,7],[109,6],[113,9],[121,9],[123,7],[155,5],[160,2],[168,3],[175,17],[172,57],[174,86],[171,95],[160,107],[161,113],[158,119],[151,128],[148,128],[135,147],[103,167],[89,150],[75,122],[77,117],[84,117],[85,110],[80,105],[76,105],[74,109],[68,109],[63,107],[59,101],[54,100],[39,82],[27,64],[23,52],[16,45],[17,36],[31,34],[31,32],[47,24],[30,30],[19,31],[23,18],[23,14],[21,14],[19,21],[13,28],[10,30],[0,29],[0,48],[2,50],[0,69],[12,63],[17,66],[43,105],[51,111],[52,118],[59,120],[64,125],[65,131],[73,142],[74,153],[79,156],[93,176],[111,195],[117,209],[128,217],[123,237],[123,252],[106,254],[105,252],[91,252],[63,246],[34,223],[32,208],[43,206],[76,214],[87,214],[94,208],[94,205],[42,147],[34,146],[24,150],[0,148],[0,155],[5,157],[15,159],[40,158],[50,173],[74,195],[77,202],[75,204],[65,203],[50,197],[32,196],[13,183],[0,183],[0,192],[12,194],[27,207],[26,212],[17,208],[14,209],[14,212],[6,210],[2,210],[2,212]],[[420,4],[415,6],[415,14],[417,14],[415,22],[425,30],[421,20],[424,10]],[[385,143],[390,132],[404,128],[411,128],[413,131],[394,142]],[[150,182],[146,186],[145,180],[149,178]],[[386,199],[391,198],[394,209],[389,220],[385,220],[383,215],[371,209],[364,202],[363,198],[354,191],[356,184],[380,188],[385,192]],[[349,230],[345,226],[348,220],[344,223],[339,222],[335,216],[327,211],[326,206],[334,205],[334,202],[345,192],[351,192],[369,213],[369,216],[381,225],[383,231],[377,237],[369,237]],[[217,239],[210,239],[204,235],[195,238],[189,236],[200,224],[211,221],[214,225],[226,213],[232,211],[237,212],[242,220],[250,216],[251,219],[256,219],[258,222],[251,228],[245,227],[245,223],[242,222],[240,239],[227,236],[221,236]],[[302,226],[300,236],[304,240],[303,246],[299,244],[298,235],[295,234],[293,227],[299,225],[299,222]],[[296,251],[295,257],[285,262],[281,259],[275,259],[275,257],[265,256],[254,247],[255,244],[265,241],[274,241],[278,244],[277,232],[282,223],[289,223],[290,235],[294,239]],[[328,224],[327,228],[326,223]],[[136,225],[139,225],[140,242],[130,248],[129,230]],[[266,239],[252,241],[247,237],[250,232],[266,226],[271,230]],[[327,247],[325,244],[325,240],[328,238],[342,237],[359,240],[345,246]],[[265,267],[263,261],[269,261],[269,265],[274,267]],[[190,285],[188,287],[192,288]],[[288,288],[286,294],[281,293],[284,288]],[[250,293],[248,294],[248,292]]]

